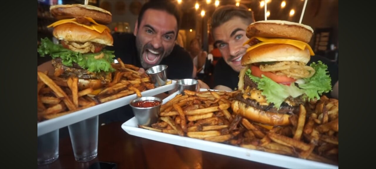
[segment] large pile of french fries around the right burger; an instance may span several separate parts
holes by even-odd
[[[289,126],[268,126],[235,115],[240,91],[184,91],[161,106],[159,121],[139,128],[338,165],[338,100],[300,105]]]

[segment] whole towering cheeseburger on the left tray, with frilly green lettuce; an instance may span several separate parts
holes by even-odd
[[[111,81],[114,71],[114,52],[103,47],[112,46],[110,29],[104,24],[112,21],[110,12],[91,5],[54,5],[51,14],[58,19],[53,27],[54,44],[41,39],[38,53],[50,55],[54,75],[61,78],[77,77],[80,89],[99,89]]]

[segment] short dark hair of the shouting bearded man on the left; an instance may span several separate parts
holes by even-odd
[[[149,0],[149,2],[146,2],[138,15],[138,25],[141,23],[141,20],[143,19],[144,13],[148,9],[156,9],[160,11],[165,11],[168,14],[174,15],[177,22],[177,31],[180,29],[180,20],[181,20],[181,14],[177,6],[171,1],[171,0]],[[177,36],[176,36],[177,37]]]

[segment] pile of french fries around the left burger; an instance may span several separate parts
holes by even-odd
[[[149,76],[138,72],[138,67],[117,60],[119,63],[112,64],[116,69],[112,81],[97,92],[92,88],[79,90],[77,77],[66,79],[38,71],[38,122],[135,93],[141,97],[141,92],[155,88]]]

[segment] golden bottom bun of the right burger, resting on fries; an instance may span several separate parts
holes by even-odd
[[[238,100],[232,101],[231,109],[235,114],[241,115],[254,122],[267,125],[290,125],[290,115],[256,109]]]

